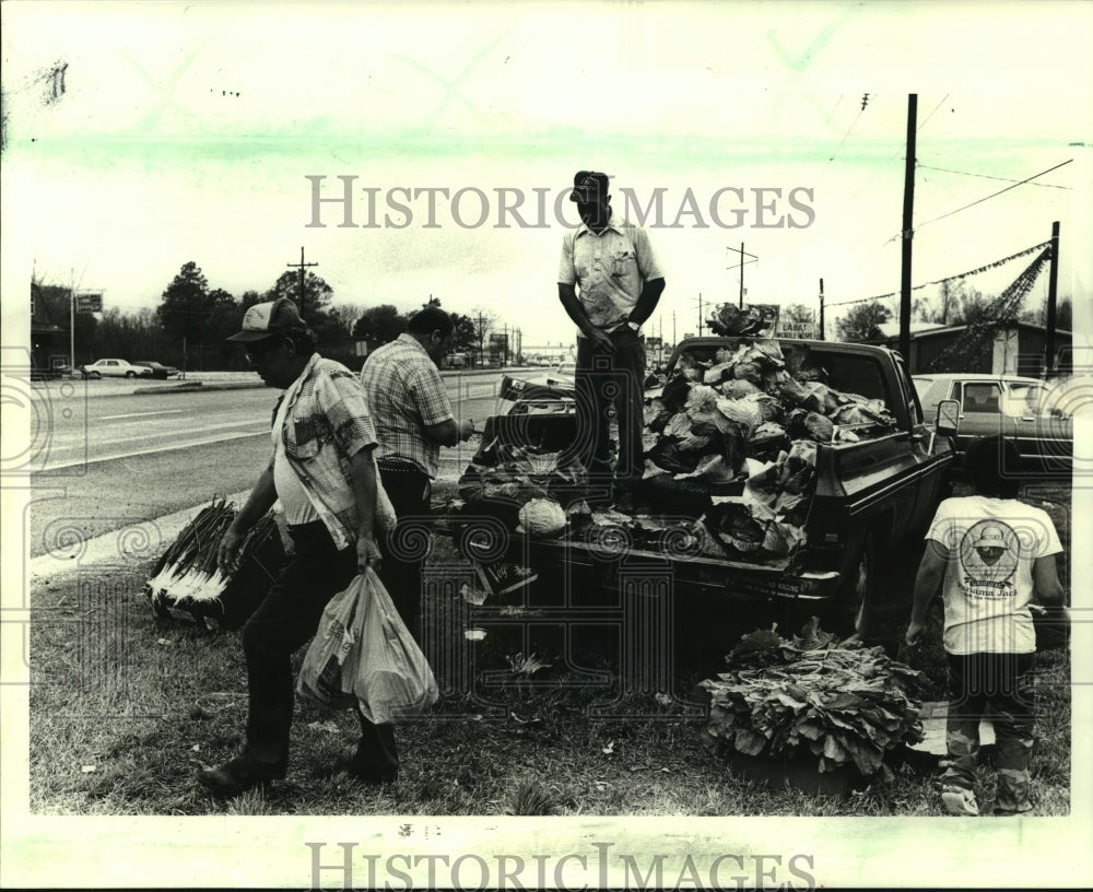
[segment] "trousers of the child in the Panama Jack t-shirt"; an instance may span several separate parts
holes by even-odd
[[[1033,748],[1033,654],[949,654],[949,760],[942,783],[972,788],[979,755],[979,719],[995,727],[999,811],[1029,811]]]

